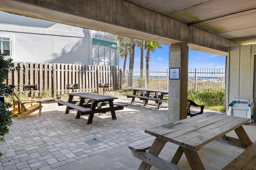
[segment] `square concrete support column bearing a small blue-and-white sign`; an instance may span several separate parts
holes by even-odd
[[[170,45],[169,68],[180,68],[180,79],[169,79],[168,123],[187,117],[188,44]]]

